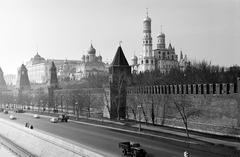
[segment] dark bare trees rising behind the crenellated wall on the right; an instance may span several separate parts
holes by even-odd
[[[133,74],[131,85],[236,83],[238,76],[239,66],[224,68],[202,61],[188,65],[185,71],[173,68],[168,73],[155,70]]]

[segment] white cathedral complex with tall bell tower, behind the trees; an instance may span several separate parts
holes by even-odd
[[[183,58],[182,52],[180,54],[180,59],[178,60],[178,55],[175,53],[175,48],[171,43],[166,46],[165,34],[162,32],[157,36],[156,49],[153,49],[151,18],[148,16],[148,13],[143,20],[142,52],[139,58],[134,55],[131,61],[133,73],[153,70],[160,70],[162,73],[167,73],[175,67],[184,70],[186,66],[190,64],[186,55]]]

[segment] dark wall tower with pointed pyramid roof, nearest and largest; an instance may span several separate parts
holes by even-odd
[[[131,67],[118,47],[111,66],[109,67],[110,82],[110,118],[125,119],[126,117],[126,87],[131,75]]]

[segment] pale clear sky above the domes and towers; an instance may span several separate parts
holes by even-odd
[[[37,51],[80,60],[91,43],[111,62],[119,41],[131,63],[142,52],[146,8],[153,49],[162,25],[178,55],[240,65],[240,0],[0,0],[0,67],[17,74]]]

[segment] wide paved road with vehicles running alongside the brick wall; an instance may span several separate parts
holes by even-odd
[[[86,145],[102,154],[114,157],[121,156],[118,143],[121,141],[136,141],[148,152],[148,157],[183,157],[184,148],[163,143],[157,139],[147,139],[139,135],[119,133],[106,128],[68,123],[50,123],[49,118],[41,117],[34,119],[32,116],[16,113],[17,120],[13,122],[25,125],[26,122],[33,124],[34,129],[43,130],[51,134],[66,138],[79,144]],[[9,114],[0,113],[0,118],[9,120]],[[217,154],[190,150],[191,157],[220,157]]]

